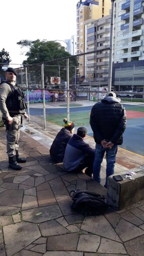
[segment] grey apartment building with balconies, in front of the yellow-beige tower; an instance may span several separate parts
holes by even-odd
[[[99,50],[99,52],[85,55],[85,76],[88,81],[91,80],[106,85],[109,76],[111,15],[109,14],[91,23],[87,22],[85,22],[87,38],[85,52],[91,52],[92,50]]]

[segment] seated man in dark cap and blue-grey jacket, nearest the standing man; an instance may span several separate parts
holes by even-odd
[[[75,173],[79,173],[87,167],[85,173],[91,177],[95,151],[83,141],[86,133],[87,129],[85,127],[79,127],[77,134],[70,138],[65,149],[63,165],[67,171]]]

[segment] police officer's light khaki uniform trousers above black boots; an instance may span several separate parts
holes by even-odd
[[[7,155],[9,157],[15,156],[18,150],[18,140],[20,138],[20,128],[21,116],[13,117],[13,122],[15,122],[14,128],[12,130],[7,130]]]

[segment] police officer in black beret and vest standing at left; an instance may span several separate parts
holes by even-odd
[[[22,115],[28,118],[25,110],[27,105],[24,101],[24,93],[17,88],[17,72],[13,68],[6,70],[6,81],[0,83],[0,111],[3,116],[3,123],[7,131],[7,155],[9,167],[14,170],[21,170],[26,157],[21,158],[18,153],[18,140],[20,128],[22,127]]]

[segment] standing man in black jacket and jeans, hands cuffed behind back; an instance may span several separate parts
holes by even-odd
[[[100,183],[100,168],[106,152],[106,183],[114,173],[117,145],[123,143],[126,128],[126,111],[114,92],[109,92],[101,102],[96,103],[90,114],[90,125],[96,142],[93,163],[93,179]]]

